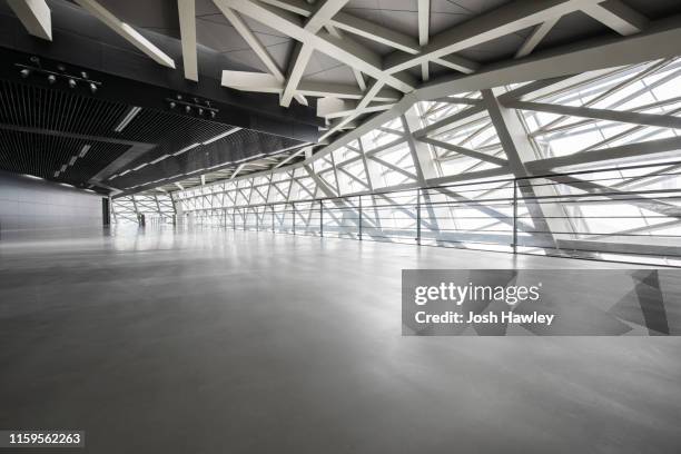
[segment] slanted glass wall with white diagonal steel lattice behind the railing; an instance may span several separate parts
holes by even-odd
[[[223,227],[681,255],[680,80],[664,59],[417,101],[300,162],[174,197]]]

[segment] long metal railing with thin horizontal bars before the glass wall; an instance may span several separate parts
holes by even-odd
[[[194,211],[195,224],[681,266],[681,162]]]

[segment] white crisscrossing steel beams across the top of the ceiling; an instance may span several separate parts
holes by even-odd
[[[435,33],[430,23],[432,2],[414,0],[417,12],[414,36],[351,13],[353,9],[346,8],[347,0],[211,2],[266,69],[265,72],[225,70],[221,83],[238,90],[278,93],[284,107],[290,106],[292,99],[307,106],[309,97],[322,98],[318,115],[327,120],[323,140],[352,129],[366,115],[376,111],[404,114],[416,99],[436,99],[455,92],[675,57],[677,43],[681,40],[678,17],[650,21],[620,0],[515,0]],[[175,68],[172,58],[98,1],[76,0],[76,3],[159,65]],[[30,33],[51,39],[51,18],[43,0],[11,0],[10,6]],[[177,8],[185,77],[198,80],[195,0],[177,0]],[[621,38],[537,52],[537,46],[556,23],[574,14],[590,17]],[[288,61],[284,65],[276,61],[254,23],[295,41]],[[524,30],[532,31],[517,46],[515,58],[484,63],[462,56],[477,46],[509,39]],[[364,45],[366,40],[387,50],[378,52]],[[305,80],[303,75],[313,53],[325,55],[348,67],[356,86]],[[448,72],[433,81],[434,67]]]

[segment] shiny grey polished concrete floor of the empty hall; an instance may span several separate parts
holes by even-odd
[[[514,266],[623,267],[217,230],[0,241],[0,430],[81,428],[90,453],[678,453],[679,338],[401,336],[402,268]]]

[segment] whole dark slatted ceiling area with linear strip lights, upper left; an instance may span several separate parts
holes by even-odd
[[[102,100],[78,91],[0,80],[0,168],[83,186],[130,148],[129,144],[121,145],[116,142],[117,140],[149,144],[151,148],[136,160],[115,170],[114,175],[120,175],[161,156],[174,155],[182,148],[207,141],[234,128],[205,118],[181,115],[179,111],[141,109],[122,131],[116,132],[115,128],[130,108],[131,106],[125,103]],[[18,130],[19,128],[23,130]],[[88,136],[90,140],[73,136]],[[86,157],[78,158],[73,166],[67,166],[63,172],[55,177],[55,172],[68,164],[71,157],[77,156],[83,145],[91,146]],[[164,184],[164,178],[191,174],[296,145],[299,142],[293,139],[240,129],[210,145],[197,147],[184,155],[129,171],[105,182],[119,189],[129,189],[150,181]],[[234,168],[226,174],[219,174],[219,178],[231,175]],[[191,174],[193,180],[188,185],[200,185],[199,176],[200,172]],[[170,189],[175,190],[176,187]]]

